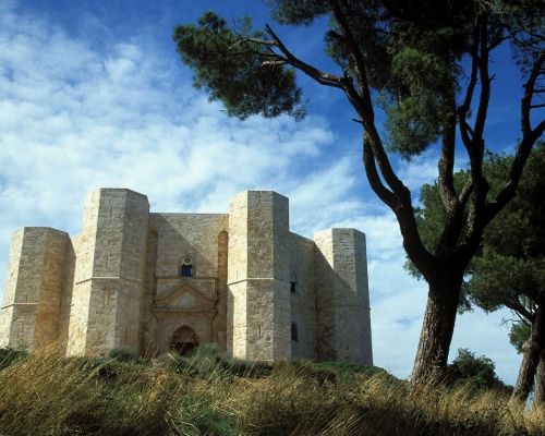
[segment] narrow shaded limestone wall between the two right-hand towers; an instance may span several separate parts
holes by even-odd
[[[291,340],[292,359],[316,359],[316,291],[314,242],[290,233],[291,320],[296,338]],[[293,291],[291,282],[293,281]]]

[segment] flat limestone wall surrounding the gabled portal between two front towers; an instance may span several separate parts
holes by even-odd
[[[206,300],[211,298],[215,313],[173,311],[154,315],[155,337],[150,343],[168,350],[174,330],[187,326],[201,341],[227,346],[227,259],[229,216],[227,214],[150,214],[150,229],[157,231],[156,296],[161,298],[187,282]],[[185,258],[191,259],[193,277],[180,277]],[[152,279],[146,279],[150,281]],[[206,286],[205,286],[206,283]],[[209,286],[211,283],[211,288]],[[203,288],[204,287],[204,288]],[[148,327],[144,327],[148,329]],[[156,346],[157,347],[157,346]]]

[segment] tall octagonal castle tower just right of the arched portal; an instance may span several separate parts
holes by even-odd
[[[291,358],[289,204],[272,191],[231,198],[228,349],[235,358]]]

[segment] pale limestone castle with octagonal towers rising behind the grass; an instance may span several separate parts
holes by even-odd
[[[0,347],[156,355],[215,342],[255,361],[373,361],[365,235],[290,232],[271,191],[234,195],[229,214],[164,214],[100,189],[81,234],[13,233],[4,292]]]

